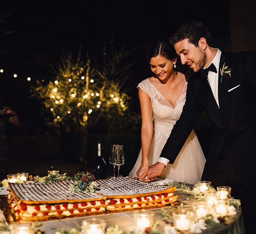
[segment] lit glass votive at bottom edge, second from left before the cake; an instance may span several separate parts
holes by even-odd
[[[98,218],[83,220],[84,234],[105,234],[106,221]]]

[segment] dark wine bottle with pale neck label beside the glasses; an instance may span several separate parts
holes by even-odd
[[[103,180],[106,179],[106,170],[106,162],[101,155],[101,143],[98,141],[98,156],[96,156],[96,160],[93,163],[92,174],[97,180]]]

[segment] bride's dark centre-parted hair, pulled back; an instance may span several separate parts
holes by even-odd
[[[158,55],[168,59],[173,60],[177,58],[177,54],[173,45],[170,44],[169,39],[164,39],[160,41],[153,41],[147,47],[147,60],[150,60]]]

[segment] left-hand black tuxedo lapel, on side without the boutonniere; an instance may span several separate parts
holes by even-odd
[[[201,74],[198,74],[198,75],[201,75]],[[204,98],[204,102],[205,102],[205,106],[206,106],[206,111],[208,112],[212,121],[217,126],[222,128],[221,115],[219,114],[219,107],[218,107],[217,102],[214,98],[214,95],[211,91],[209,82],[203,75],[201,75],[201,76],[202,76],[202,78],[201,78],[202,94],[203,94],[203,98]]]

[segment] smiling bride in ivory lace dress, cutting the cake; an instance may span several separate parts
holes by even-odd
[[[155,75],[138,85],[142,148],[129,176],[147,181],[149,166],[160,161],[166,167],[159,178],[195,184],[201,179],[205,158],[194,130],[173,164],[159,158],[186,99],[185,75],[174,71],[177,54],[168,41],[158,41],[147,48],[147,59]]]

